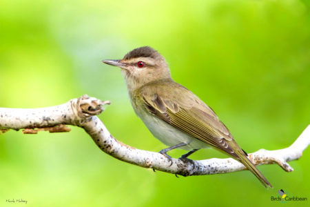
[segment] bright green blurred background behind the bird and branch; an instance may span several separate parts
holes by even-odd
[[[309,1],[0,1],[0,107],[38,108],[83,94],[112,101],[112,135],[165,148],[136,117],[120,69],[101,63],[152,46],[175,81],[203,99],[247,152],[286,148],[310,123]],[[185,151],[174,150],[173,157]],[[192,159],[226,157],[200,150]],[[176,178],[105,155],[81,128],[0,135],[0,206],[274,206],[310,199],[310,150],[293,172]],[[21,204],[22,205],[22,204]],[[294,202],[287,206],[309,205]]]

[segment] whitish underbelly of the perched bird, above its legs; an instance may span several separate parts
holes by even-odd
[[[154,137],[163,142],[167,146],[175,146],[180,143],[185,143],[187,146],[180,147],[184,150],[193,150],[200,148],[208,148],[209,145],[199,139],[187,135],[187,133],[178,130],[167,122],[150,115],[149,112],[141,110],[137,112],[138,117],[142,119],[145,126],[152,132]]]

